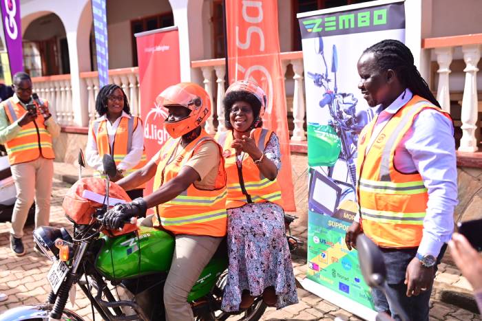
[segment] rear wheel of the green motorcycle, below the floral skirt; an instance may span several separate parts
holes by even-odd
[[[258,321],[260,320],[261,316],[263,315],[264,311],[266,310],[266,307],[268,307],[262,298],[255,298],[253,305],[249,307],[246,310],[243,311],[238,311],[238,312],[224,312],[220,310],[221,306],[221,301],[222,301],[222,294],[224,292],[224,287],[226,287],[227,283],[227,270],[224,271],[218,281],[216,282],[216,285],[213,287],[211,291],[211,297],[214,299],[214,302],[216,302],[215,306],[213,309],[207,313],[207,315],[203,316],[197,316],[196,321],[222,321],[222,320],[227,320],[230,316],[235,316],[235,320],[238,321]],[[212,305],[211,305],[212,307]]]

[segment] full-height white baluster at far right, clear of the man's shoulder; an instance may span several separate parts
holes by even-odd
[[[465,69],[463,69],[465,71],[465,87],[463,88],[462,98],[462,138],[459,151],[474,152],[479,149],[475,139],[478,113],[476,74],[479,71],[477,63],[481,58],[481,46],[464,45],[462,46],[462,52],[465,61]]]

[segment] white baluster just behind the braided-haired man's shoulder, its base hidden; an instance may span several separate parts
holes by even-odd
[[[453,47],[442,47],[434,49],[435,56],[437,56],[437,63],[439,64],[439,85],[437,88],[437,100],[442,109],[450,113],[450,90],[449,78],[450,63],[452,63]]]

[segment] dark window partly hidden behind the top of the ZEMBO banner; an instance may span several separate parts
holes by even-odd
[[[301,34],[297,13],[309,12],[326,8],[339,7],[341,5],[349,5],[354,3],[368,2],[372,0],[291,0],[293,8],[293,27],[295,32],[293,33],[293,43],[291,45],[293,51],[297,52],[302,49]]]

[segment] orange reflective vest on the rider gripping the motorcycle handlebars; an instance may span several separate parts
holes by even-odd
[[[214,141],[202,130],[201,135],[182,148],[180,139],[167,140],[159,153],[154,188],[156,191],[165,182],[174,179],[187,161],[196,153],[201,144]],[[216,144],[217,145],[217,144]],[[220,162],[218,164],[218,177],[214,190],[200,190],[191,184],[187,190],[156,207],[153,215],[154,226],[159,226],[174,232],[174,234],[192,234],[224,236],[227,228],[226,212],[226,172],[224,171],[224,159],[219,147]]]

